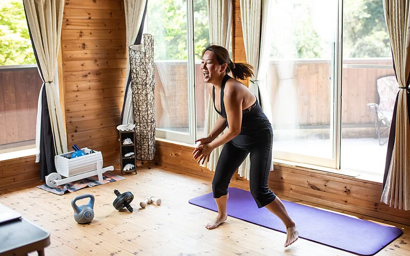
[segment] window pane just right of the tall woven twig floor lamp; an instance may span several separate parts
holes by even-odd
[[[187,1],[150,0],[146,32],[154,36],[156,127],[189,133]]]

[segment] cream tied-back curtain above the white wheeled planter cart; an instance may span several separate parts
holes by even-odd
[[[55,154],[67,152],[66,131],[59,102],[58,81],[54,82],[57,55],[63,23],[64,0],[23,0],[29,24],[37,65],[43,75],[36,125],[36,162],[40,161],[40,125],[42,113],[41,95],[46,90],[47,105],[53,133]]]

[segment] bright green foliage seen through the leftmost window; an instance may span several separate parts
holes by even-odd
[[[0,66],[35,63],[23,1],[0,3]]]

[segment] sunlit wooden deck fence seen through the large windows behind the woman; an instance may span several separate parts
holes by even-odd
[[[278,67],[285,61],[272,60],[269,64],[269,97],[273,113],[278,108],[279,86],[292,86],[292,98],[296,106],[299,125],[329,125],[331,119],[330,60],[295,59],[289,66],[290,74]],[[388,58],[346,59],[342,70],[342,123],[371,125],[374,113],[367,103],[377,102],[376,80],[394,75],[393,69],[374,65],[391,65]],[[362,65],[368,65],[362,66]],[[367,68],[366,68],[367,67]],[[282,72],[281,74],[278,73]],[[284,74],[283,74],[284,72]],[[161,74],[162,73],[162,74]],[[208,91],[202,81],[200,65],[195,65],[197,125],[203,127],[208,104]],[[161,76],[162,75],[162,76]],[[156,125],[164,128],[188,127],[187,62],[167,61],[155,65]],[[281,78],[287,80],[280,83]],[[283,97],[283,95],[281,95]]]

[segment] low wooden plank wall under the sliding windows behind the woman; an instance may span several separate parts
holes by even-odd
[[[214,173],[192,158],[192,146],[158,140],[156,146],[159,165],[212,179]],[[380,203],[380,183],[280,164],[274,168],[269,187],[282,199],[410,225],[408,212]],[[248,180],[237,173],[234,179],[249,189]]]

